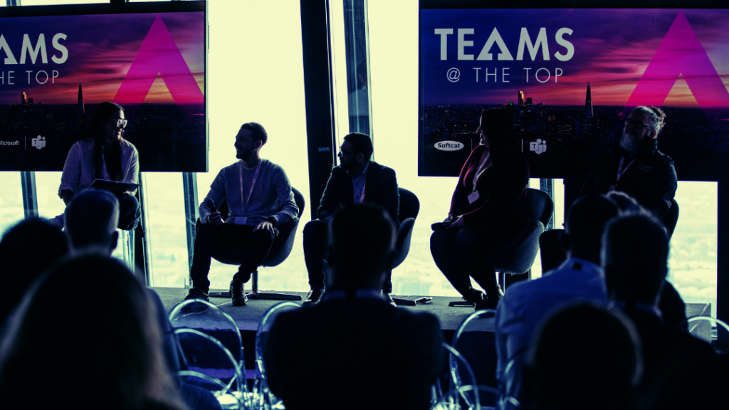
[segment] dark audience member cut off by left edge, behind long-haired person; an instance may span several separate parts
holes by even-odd
[[[3,282],[9,293],[0,301],[0,328],[31,283],[66,256],[69,243],[57,226],[42,219],[20,221],[0,241]]]

